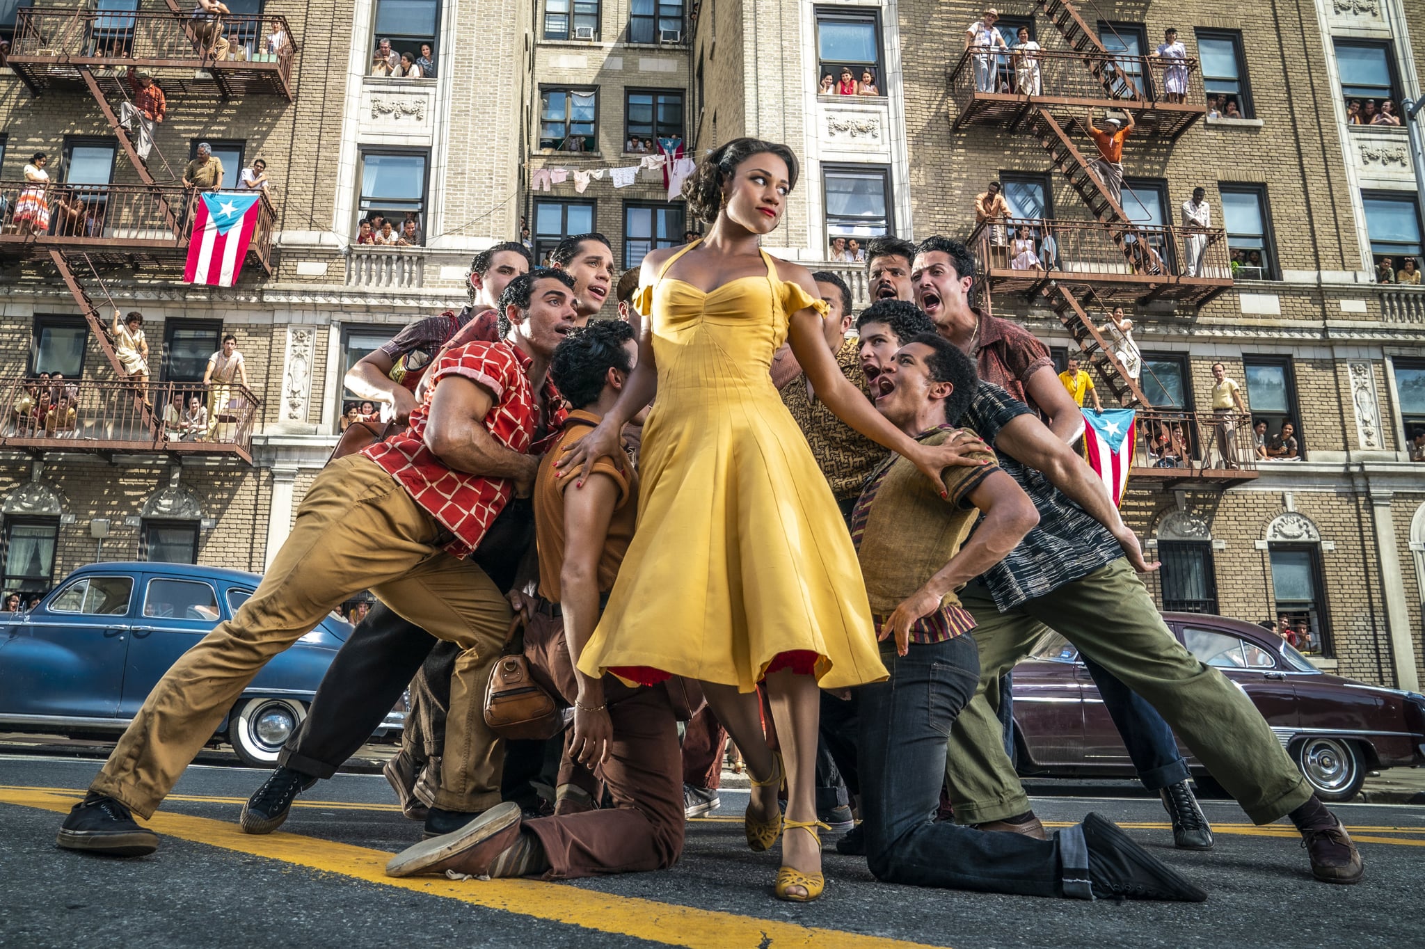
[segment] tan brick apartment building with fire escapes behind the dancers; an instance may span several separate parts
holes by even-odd
[[[598,229],[636,265],[680,244],[687,222],[661,171],[628,171],[644,158],[633,140],[681,138],[697,155],[751,134],[804,162],[770,251],[828,264],[838,235],[969,239],[985,305],[1060,359],[1084,349],[1106,402],[1137,403],[1124,512],[1164,561],[1150,583],[1166,608],[1287,616],[1312,661],[1418,688],[1425,465],[1406,442],[1425,427],[1425,292],[1377,275],[1384,256],[1419,259],[1421,190],[1406,128],[1348,124],[1352,100],[1399,111],[1421,95],[1425,36],[1401,0],[1273,4],[1250,21],[1214,3],[1020,0],[996,26],[1009,46],[1025,26],[1042,47],[1033,94],[1009,56],[962,53],[982,11],[962,1],[228,6],[242,51],[217,63],[177,0],[0,0],[0,36],[13,34],[0,197],[13,207],[21,168],[47,151],[51,181],[103,212],[67,237],[26,239],[13,211],[0,227],[7,405],[37,372],[81,378],[63,445],[4,419],[6,590],[48,587],[98,556],[261,570],[331,450],[345,369],[399,325],[459,305],[473,252],[527,221],[539,254]],[[1168,26],[1186,46],[1178,67],[1149,56]],[[278,27],[291,48],[262,54]],[[429,43],[436,78],[370,76],[380,37],[398,51]],[[147,161],[111,118],[127,66],[168,95]],[[842,67],[869,70],[881,94],[818,94]],[[1121,201],[1083,168],[1090,107],[1096,121],[1106,108],[1137,120]],[[227,289],[181,284],[190,198],[175,178],[197,141],[229,177],[262,157],[275,184]],[[970,204],[990,180],[1052,269],[1016,269],[976,229]],[[1194,187],[1208,231],[1181,227]],[[361,218],[406,211],[420,247],[353,244]],[[864,305],[859,266],[829,265]],[[211,437],[170,437],[118,382],[87,316],[107,322],[110,296],[144,312],[160,415],[219,335],[238,336],[249,392]],[[1131,385],[1103,346],[1109,305],[1134,322]],[[1224,453],[1213,362],[1271,433],[1294,423],[1304,460],[1255,462],[1245,422],[1223,433]],[[1174,430],[1177,463],[1159,467],[1149,437]]]

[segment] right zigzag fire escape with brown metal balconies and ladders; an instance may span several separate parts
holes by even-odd
[[[1174,227],[1171,219],[1150,224],[1147,214],[1126,209],[1143,205],[1127,185],[1121,202],[1104,187],[1093,170],[1097,148],[1082,128],[1090,110],[1099,128],[1110,110],[1124,121],[1131,114],[1136,124],[1124,150],[1130,170],[1134,150],[1170,148],[1207,113],[1197,61],[1110,51],[1070,0],[1033,0],[1027,13],[1053,24],[1060,41],[1040,36],[1045,48],[1022,70],[1009,54],[966,50],[950,74],[953,130],[1032,137],[1084,214],[978,225],[968,244],[979,259],[985,305],[995,294],[1017,296],[1060,319],[1096,382],[1119,405],[1139,409],[1133,469],[1140,477],[1220,484],[1255,477],[1248,422],[1224,426],[1206,413],[1200,419],[1154,409],[1141,385],[1151,369],[1109,319],[1114,306],[1124,306],[1134,322],[1141,321],[1140,308],[1153,304],[1196,312],[1231,289],[1226,232]],[[1168,94],[1170,84],[1184,94]],[[1020,234],[1033,241],[1033,252],[1016,249]]]

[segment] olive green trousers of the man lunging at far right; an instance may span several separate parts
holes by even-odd
[[[960,824],[1030,809],[1005,754],[999,680],[1049,630],[1153,705],[1255,824],[1271,824],[1311,797],[1247,693],[1183,648],[1126,559],[1005,613],[979,581],[960,601],[975,616],[980,655],[979,691],[955,720],[945,767]]]

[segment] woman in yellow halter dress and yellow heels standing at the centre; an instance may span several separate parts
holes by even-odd
[[[638,363],[613,412],[560,460],[583,479],[614,456],[624,423],[654,393],[640,455],[638,529],[579,667],[653,684],[703,683],[747,758],[747,839],[765,851],[782,826],[777,895],[821,895],[814,794],[818,685],[886,677],[865,584],[831,486],[772,386],[772,353],[791,341],[817,396],[858,432],[913,460],[939,483],[953,446],[922,446],[881,418],[826,348],[811,274],[760,249],[797,184],[785,145],[737,138],[684,185],[705,238],[643,261]],[[781,745],[761,730],[765,685]],[[598,708],[576,708],[596,728]],[[606,724],[603,724],[607,728]],[[761,775],[761,777],[758,777]],[[777,807],[787,781],[787,819]],[[821,825],[825,826],[825,825]],[[807,829],[808,834],[791,834]]]

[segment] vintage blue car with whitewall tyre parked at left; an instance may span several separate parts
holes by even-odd
[[[168,667],[229,618],[259,579],[180,563],[95,563],[33,610],[0,613],[0,730],[123,731]],[[328,617],[276,655],[234,702],[214,741],[228,741],[254,767],[276,761],[351,631]],[[393,711],[382,732],[402,720]]]

